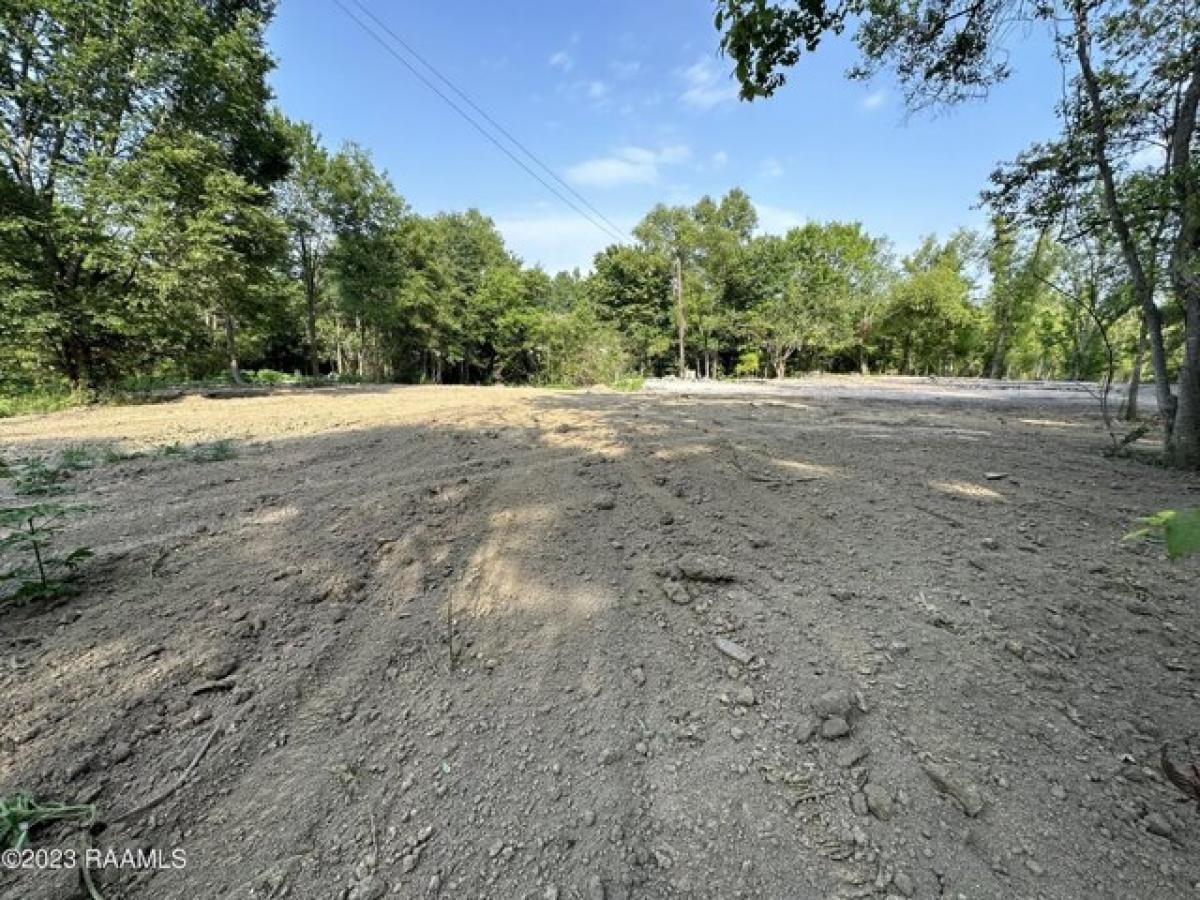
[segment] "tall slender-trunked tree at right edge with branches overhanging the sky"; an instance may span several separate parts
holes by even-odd
[[[1146,319],[1164,446],[1176,466],[1200,468],[1200,16],[1178,0],[719,0],[716,26],[746,98],[769,96],[787,67],[828,34],[853,24],[862,62],[852,74],[890,68],[908,104],[985,95],[1009,74],[1006,41],[1046,24],[1072,67],[1060,142],[1027,155],[1027,182],[1062,187],[1098,181],[1103,214]],[[1170,36],[1166,40],[1166,36]],[[1178,397],[1171,394],[1162,311],[1138,239],[1147,210],[1122,200],[1122,180],[1147,146],[1164,157],[1170,208],[1169,277],[1182,307]],[[1036,158],[1034,158],[1036,157]]]

